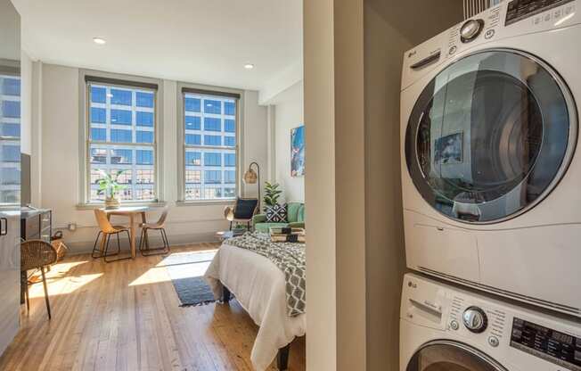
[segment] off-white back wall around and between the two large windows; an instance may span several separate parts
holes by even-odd
[[[40,179],[35,179],[33,171],[33,200],[40,200],[40,206],[53,210],[54,227],[63,228],[77,223],[75,232],[64,230],[65,242],[72,252],[87,251],[93,247],[97,229],[93,210],[78,208],[79,144],[79,70],[52,64],[41,65],[41,95],[38,125],[42,132],[41,143],[37,145],[40,156],[33,154],[33,163],[40,159]],[[168,202],[168,237],[170,243],[193,243],[213,241],[218,230],[227,227],[223,218],[224,204],[176,206],[177,201],[177,84],[163,81],[163,181],[161,200]],[[36,103],[36,102],[35,102]],[[34,105],[34,103],[33,103]],[[249,161],[263,161],[266,164],[266,107],[258,106],[258,93],[244,93],[243,117],[245,123],[245,145],[241,158],[241,174],[248,168]],[[33,114],[34,115],[34,114]],[[37,122],[35,122],[37,124]],[[34,152],[34,151],[33,151]],[[244,187],[242,193],[244,194]],[[248,189],[249,195],[255,189]],[[37,194],[37,197],[34,196]],[[158,212],[151,212],[148,219],[158,218]],[[122,221],[119,219],[119,221]]]

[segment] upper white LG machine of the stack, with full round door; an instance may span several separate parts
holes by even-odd
[[[405,54],[409,268],[581,317],[580,22],[512,0]]]

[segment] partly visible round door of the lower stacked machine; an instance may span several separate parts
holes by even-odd
[[[413,354],[405,371],[506,371],[494,359],[460,342],[428,342]]]

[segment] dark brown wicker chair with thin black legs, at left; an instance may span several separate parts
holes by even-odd
[[[30,269],[40,269],[43,276],[43,286],[45,288],[45,302],[46,311],[48,312],[48,319],[51,319],[51,304],[48,301],[48,289],[46,288],[45,267],[54,264],[57,260],[57,253],[50,243],[42,240],[29,240],[20,243],[20,276],[22,277],[22,284],[26,287],[26,309],[30,310],[29,302],[29,282],[27,271]]]

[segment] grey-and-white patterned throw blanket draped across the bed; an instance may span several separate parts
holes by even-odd
[[[258,232],[247,232],[230,238],[227,243],[254,251],[271,260],[284,273],[288,315],[294,317],[305,313],[307,306],[305,243],[273,243],[268,235]]]

